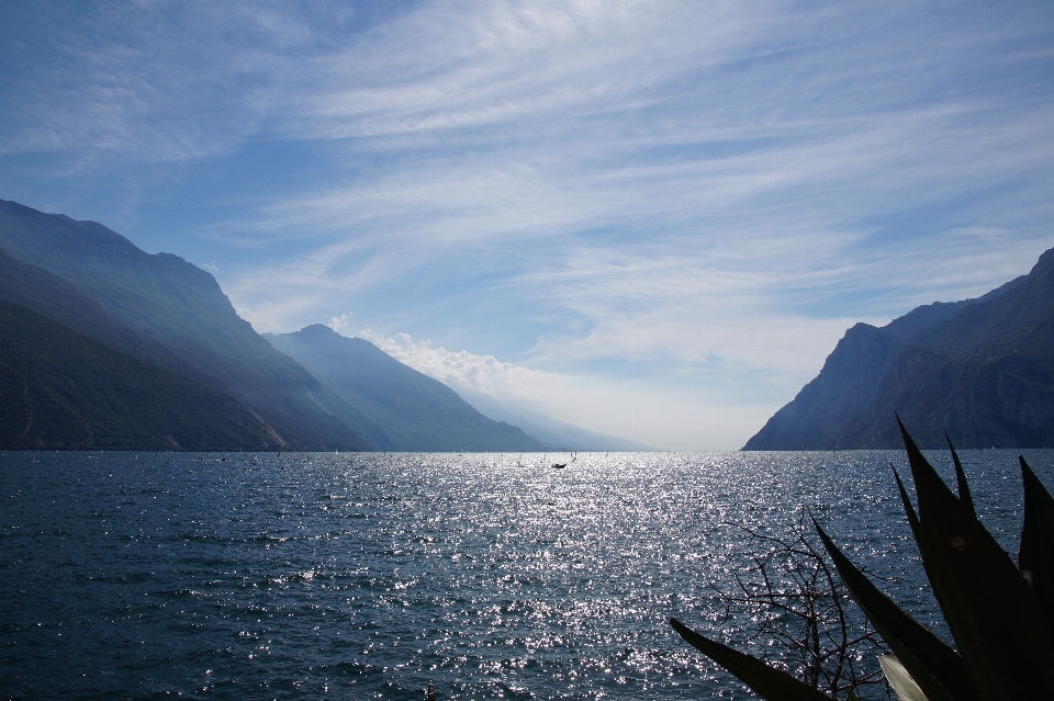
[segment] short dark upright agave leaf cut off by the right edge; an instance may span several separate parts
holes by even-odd
[[[1054,630],[1054,499],[1029,463],[1019,456],[1024,482],[1024,528],[1018,567],[1043,610],[1047,627]]]

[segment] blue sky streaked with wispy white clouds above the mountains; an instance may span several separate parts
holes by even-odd
[[[0,2],[0,199],[666,450],[1028,272],[1052,193],[1047,1]]]

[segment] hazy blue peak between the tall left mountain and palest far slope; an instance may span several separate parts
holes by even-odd
[[[535,451],[542,445],[508,423],[493,421],[437,380],[404,365],[373,343],[314,325],[294,333],[265,333],[378,425],[391,450]]]

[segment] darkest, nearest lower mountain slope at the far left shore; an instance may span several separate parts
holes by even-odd
[[[243,404],[0,301],[4,450],[273,450]]]

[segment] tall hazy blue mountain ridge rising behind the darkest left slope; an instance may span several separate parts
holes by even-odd
[[[384,448],[359,412],[238,317],[215,279],[183,259],[145,253],[94,222],[0,201],[0,247],[98,302],[258,411],[298,448]]]

